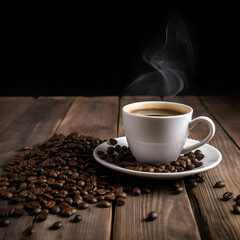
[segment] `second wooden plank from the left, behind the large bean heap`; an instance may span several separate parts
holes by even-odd
[[[72,101],[73,97],[39,98],[4,129],[0,135],[0,175],[7,160],[21,155],[18,149],[23,145],[42,142],[55,132]],[[0,204],[6,206],[2,200]],[[25,239],[23,232],[32,220],[28,215],[11,219],[11,224],[1,229],[0,239]]]

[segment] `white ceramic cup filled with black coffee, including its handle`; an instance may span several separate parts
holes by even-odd
[[[153,115],[155,112],[157,116],[146,115]],[[215,133],[215,124],[210,118],[200,116],[192,120],[193,109],[185,104],[136,102],[124,106],[122,113],[129,147],[139,162],[174,161],[181,153],[191,152],[208,143]],[[163,114],[159,116],[160,113]],[[209,126],[208,136],[199,143],[184,146],[189,130],[199,122],[205,122]]]

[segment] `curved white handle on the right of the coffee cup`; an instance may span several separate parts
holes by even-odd
[[[208,143],[213,138],[214,133],[215,133],[215,124],[209,117],[200,116],[200,117],[197,117],[197,118],[193,119],[189,123],[189,129],[192,129],[199,122],[205,122],[209,126],[209,134],[208,134],[208,136],[205,137],[199,143],[195,143],[195,144],[193,144],[191,146],[184,147],[182,149],[182,152],[181,152],[182,154],[189,153],[189,152],[191,152],[191,151],[193,151],[193,150],[203,146],[204,144]]]

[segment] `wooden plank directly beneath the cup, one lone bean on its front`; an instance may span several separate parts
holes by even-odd
[[[157,97],[123,97],[125,104],[160,100]],[[119,136],[124,135],[122,116],[119,121]],[[146,180],[138,180],[146,181]],[[183,180],[183,193],[172,194],[171,181],[149,181],[153,192],[149,195],[127,198],[124,207],[115,208],[113,239],[200,239],[198,227],[191,209]],[[159,217],[153,222],[144,219],[150,211],[157,211]]]

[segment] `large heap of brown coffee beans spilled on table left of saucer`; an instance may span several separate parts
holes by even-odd
[[[0,208],[0,226],[8,226],[9,217],[26,212],[34,216],[33,223],[45,221],[49,214],[73,216],[71,222],[80,222],[77,209],[87,209],[91,204],[100,208],[123,206],[126,192],[135,196],[150,193],[147,186],[134,185],[134,181],[94,160],[94,148],[104,141],[73,132],[68,136],[56,134],[31,149],[24,146],[23,156],[9,160],[0,178],[0,196],[9,203]],[[109,140],[109,144],[116,143]],[[58,221],[50,229],[61,227]],[[35,230],[33,224],[26,232],[31,235]]]

